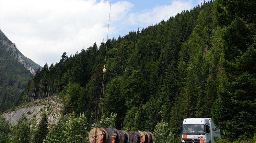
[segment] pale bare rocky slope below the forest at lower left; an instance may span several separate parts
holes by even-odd
[[[25,116],[29,120],[35,118],[35,120],[39,122],[41,113],[45,112],[47,114],[48,123],[56,124],[61,117],[62,109],[63,104],[59,102],[59,98],[57,96],[51,96],[33,103],[20,105],[13,110],[3,113],[2,116],[9,121],[11,125],[16,125],[22,116]]]

